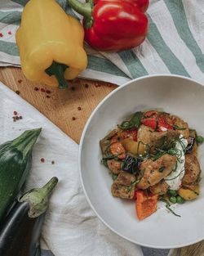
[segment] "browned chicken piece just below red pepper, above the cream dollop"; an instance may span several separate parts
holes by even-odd
[[[137,140],[148,144],[152,152],[155,147],[162,149],[170,148],[172,146],[171,141],[175,141],[179,137],[180,133],[177,131],[167,130],[166,132],[153,132],[152,128],[143,124],[140,126],[137,134]]]

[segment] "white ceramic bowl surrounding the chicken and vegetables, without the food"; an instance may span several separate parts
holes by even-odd
[[[162,108],[179,115],[204,136],[204,87],[175,75],[153,75],[132,80],[111,92],[96,107],[82,133],[79,165],[82,186],[91,208],[112,231],[138,245],[177,248],[204,239],[204,183],[197,200],[177,204],[168,213],[165,205],[144,221],[135,217],[135,203],[111,195],[112,177],[101,163],[99,141],[131,113]],[[204,169],[204,146],[199,147]]]

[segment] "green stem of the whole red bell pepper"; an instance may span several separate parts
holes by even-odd
[[[91,28],[91,26],[93,25],[93,1],[86,0],[86,2],[79,2],[78,0],[67,0],[67,2],[74,11],[77,11],[79,14],[84,16],[86,20],[86,27]]]

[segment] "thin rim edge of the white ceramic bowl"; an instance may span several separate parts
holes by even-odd
[[[79,142],[78,168],[79,168],[80,182],[81,182],[81,185],[82,185],[82,190],[83,190],[83,192],[84,192],[84,194],[86,196],[86,200],[87,200],[88,204],[91,206],[91,209],[94,211],[94,213],[97,216],[97,218],[99,218],[100,221],[103,222],[106,227],[108,227],[111,231],[113,231],[118,236],[121,236],[123,239],[128,240],[128,241],[134,243],[135,245],[140,245],[140,246],[144,246],[144,247],[148,247],[148,248],[154,248],[154,249],[170,249],[168,246],[165,246],[165,245],[164,246],[157,246],[157,245],[155,245],[155,246],[151,245],[150,246],[150,245],[147,245],[145,243],[137,243],[137,242],[135,242],[135,240],[131,240],[130,238],[128,238],[126,236],[123,236],[121,233],[116,231],[113,227],[110,227],[109,224],[107,222],[105,222],[104,219],[100,217],[100,214],[97,213],[97,211],[95,210],[94,205],[91,203],[91,200],[89,200],[89,197],[88,197],[88,195],[86,193],[86,188],[85,188],[85,186],[83,184],[83,181],[82,181],[82,161],[81,161],[82,160],[82,144],[83,144],[83,141],[84,141],[84,138],[85,138],[85,135],[86,135],[86,130],[87,130],[89,124],[91,123],[91,119],[94,117],[95,113],[100,109],[100,106],[102,106],[104,104],[104,102],[109,97],[111,97],[114,93],[117,93],[122,88],[128,86],[131,83],[135,83],[135,82],[143,80],[143,79],[149,79],[149,78],[155,78],[155,77],[166,77],[166,78],[170,77],[170,78],[184,79],[184,80],[191,81],[193,83],[197,83],[197,84],[201,85],[202,87],[204,87],[204,84],[199,83],[199,82],[197,82],[194,79],[191,79],[191,78],[185,77],[183,75],[179,75],[179,74],[148,74],[148,75],[144,75],[144,76],[142,76],[140,78],[137,78],[137,79],[131,79],[127,83],[119,85],[118,88],[114,89],[106,97],[104,97],[104,99],[102,101],[100,101],[100,103],[95,107],[95,109],[92,111],[90,117],[86,121],[85,127],[83,128],[83,131],[82,131],[82,136],[81,136],[81,139],[80,139],[80,142]],[[204,239],[204,236],[200,240],[195,240],[195,241],[192,241],[192,242],[187,243],[187,244],[171,246],[171,249],[181,248],[181,247],[188,246],[188,245],[193,245],[193,244],[195,244],[197,242],[202,241],[203,239]]]

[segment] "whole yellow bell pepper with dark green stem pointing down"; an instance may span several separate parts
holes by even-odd
[[[24,75],[34,82],[66,88],[86,69],[84,31],[55,0],[30,0],[24,7],[16,32]]]

